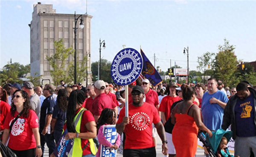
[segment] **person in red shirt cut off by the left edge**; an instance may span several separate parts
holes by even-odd
[[[0,86],[0,138],[3,134],[3,124],[11,106],[8,104],[7,92]]]

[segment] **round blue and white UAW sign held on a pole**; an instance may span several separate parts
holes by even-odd
[[[143,60],[137,50],[122,49],[116,54],[112,62],[111,77],[118,85],[129,85],[140,76],[142,67]]]

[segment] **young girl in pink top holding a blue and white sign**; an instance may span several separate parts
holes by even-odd
[[[108,142],[108,140],[106,139],[106,137],[103,134],[103,126],[104,125],[113,125],[116,123],[116,114],[115,112],[110,109],[110,108],[105,108],[100,117],[99,120],[96,123],[96,127],[97,127],[97,131],[98,131],[98,135],[97,138],[99,140],[99,149],[97,151],[96,157],[100,157],[100,148],[101,145],[107,146],[109,148],[114,148],[115,150],[120,146],[120,135],[117,133],[117,138],[116,138],[116,143],[115,144],[111,144],[110,142]]]

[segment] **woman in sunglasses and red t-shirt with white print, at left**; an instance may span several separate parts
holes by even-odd
[[[17,120],[10,128],[16,117]],[[17,90],[12,95],[11,112],[7,114],[4,128],[3,144],[6,144],[9,137],[7,146],[17,157],[41,157],[38,117],[30,107],[26,91]]]

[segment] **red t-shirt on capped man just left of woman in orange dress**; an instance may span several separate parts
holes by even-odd
[[[166,121],[171,116],[170,109],[172,107],[172,104],[175,103],[176,101],[181,100],[181,99],[182,98],[180,98],[180,97],[171,97],[170,95],[167,95],[167,96],[163,97],[158,111],[164,112],[164,115],[166,117]]]

